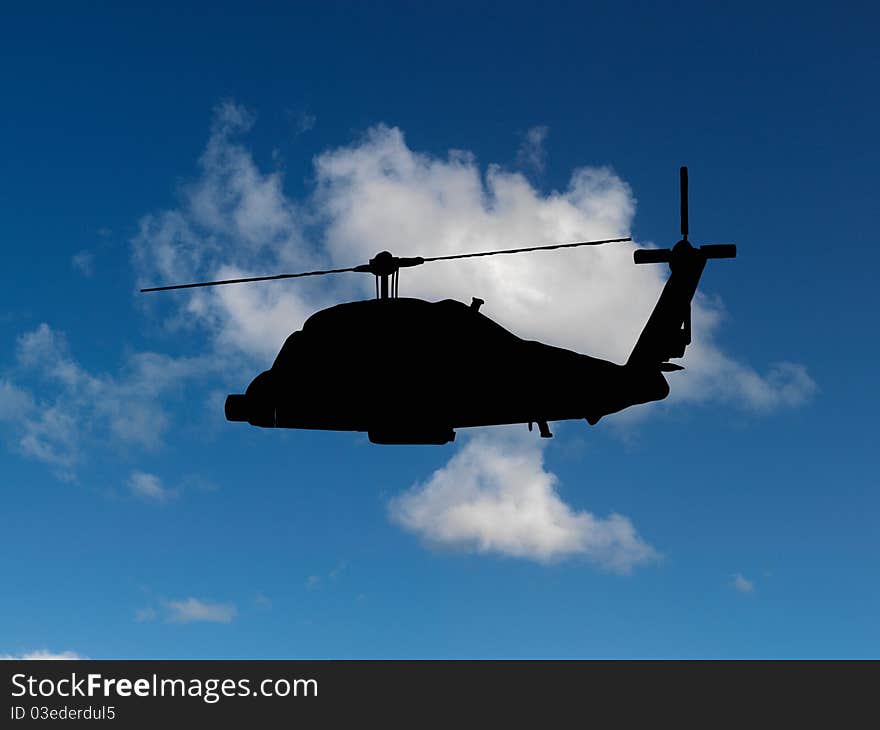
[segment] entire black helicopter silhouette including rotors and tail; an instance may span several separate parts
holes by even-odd
[[[376,444],[446,444],[455,429],[585,419],[590,425],[669,394],[664,373],[691,342],[691,300],[706,261],[736,257],[733,244],[688,241],[688,174],[680,170],[681,240],[639,249],[636,264],[667,263],[670,276],[623,365],[523,340],[470,305],[398,296],[400,270],[430,262],[631,241],[531,246],[449,256],[376,254],[366,264],[141,289],[142,292],[275,281],[345,272],[372,274],[376,298],[321,310],[290,335],[244,394],[229,395],[229,421],[264,428],[367,432]],[[498,377],[498,373],[505,373]]]

